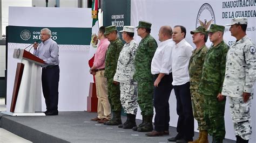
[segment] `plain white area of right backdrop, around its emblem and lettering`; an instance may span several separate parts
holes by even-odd
[[[256,6],[249,7],[240,7],[240,8],[225,8],[223,9],[223,2],[228,1],[167,1],[167,0],[131,0],[131,26],[138,26],[140,20],[145,20],[147,22],[152,23],[151,26],[151,35],[158,41],[158,31],[159,28],[163,25],[170,25],[174,27],[175,25],[183,25],[186,27],[186,40],[193,46],[195,45],[192,42],[192,35],[190,31],[196,29],[196,19],[198,15],[198,11],[200,7],[204,3],[208,3],[212,6],[215,15],[215,23],[218,25],[229,24],[231,18],[223,19],[223,12],[226,11],[244,11],[244,10],[255,10]],[[203,17],[203,16],[202,16]],[[248,27],[255,26],[255,17],[248,18]],[[204,19],[200,19],[204,20]],[[210,19],[207,19],[210,20]],[[228,44],[231,41],[235,41],[234,37],[231,37],[230,32],[228,31],[229,26],[226,26],[226,32],[224,34],[224,41]],[[249,37],[255,42],[255,32],[256,31],[247,31]],[[135,34],[134,39],[137,42],[141,40],[141,38]],[[210,40],[207,41],[206,44],[208,47],[211,45]],[[255,85],[254,85],[255,92]],[[174,92],[172,91],[170,96],[170,126],[177,126],[178,116],[176,113],[176,97]],[[255,99],[252,101],[252,126],[255,131]],[[137,118],[142,118],[140,116],[140,110],[138,110]],[[197,131],[197,121],[195,123],[195,131]],[[225,127],[226,127],[226,137],[228,139],[235,139],[234,131],[233,131],[233,123],[230,117],[230,110],[228,106],[228,100],[226,102],[225,108]],[[252,140],[250,142],[256,142],[255,133],[252,134]]]

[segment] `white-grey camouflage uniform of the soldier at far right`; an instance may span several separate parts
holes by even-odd
[[[235,22],[235,20],[239,20],[239,18],[234,18],[233,21]],[[242,19],[240,18],[240,20]],[[255,75],[255,44],[245,35],[231,45],[227,52],[226,73],[222,90],[222,94],[230,98],[230,112],[235,135],[239,135],[244,140],[250,140],[252,134],[250,108]],[[243,101],[243,92],[251,93],[251,97],[246,103]]]

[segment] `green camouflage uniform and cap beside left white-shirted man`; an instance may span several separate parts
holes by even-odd
[[[139,22],[137,28],[151,28],[151,23]],[[157,42],[148,34],[139,42],[134,60],[135,72],[133,78],[138,82],[138,103],[143,122],[152,124],[153,117],[153,76],[151,74],[151,61],[157,49]],[[140,125],[139,125],[140,127]],[[139,131],[139,130],[138,130]],[[145,130],[146,131],[146,130]]]

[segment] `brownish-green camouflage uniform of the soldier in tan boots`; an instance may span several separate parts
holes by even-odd
[[[200,49],[194,49],[190,58],[190,92],[194,118],[198,121],[198,130],[207,130],[204,119],[204,95],[198,93],[198,87],[202,76],[202,69],[207,53],[207,47],[204,45]]]

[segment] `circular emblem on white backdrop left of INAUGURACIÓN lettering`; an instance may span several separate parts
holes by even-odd
[[[212,6],[204,3],[197,14],[196,28],[198,26],[204,26],[207,30],[211,24],[215,24],[215,15]]]

